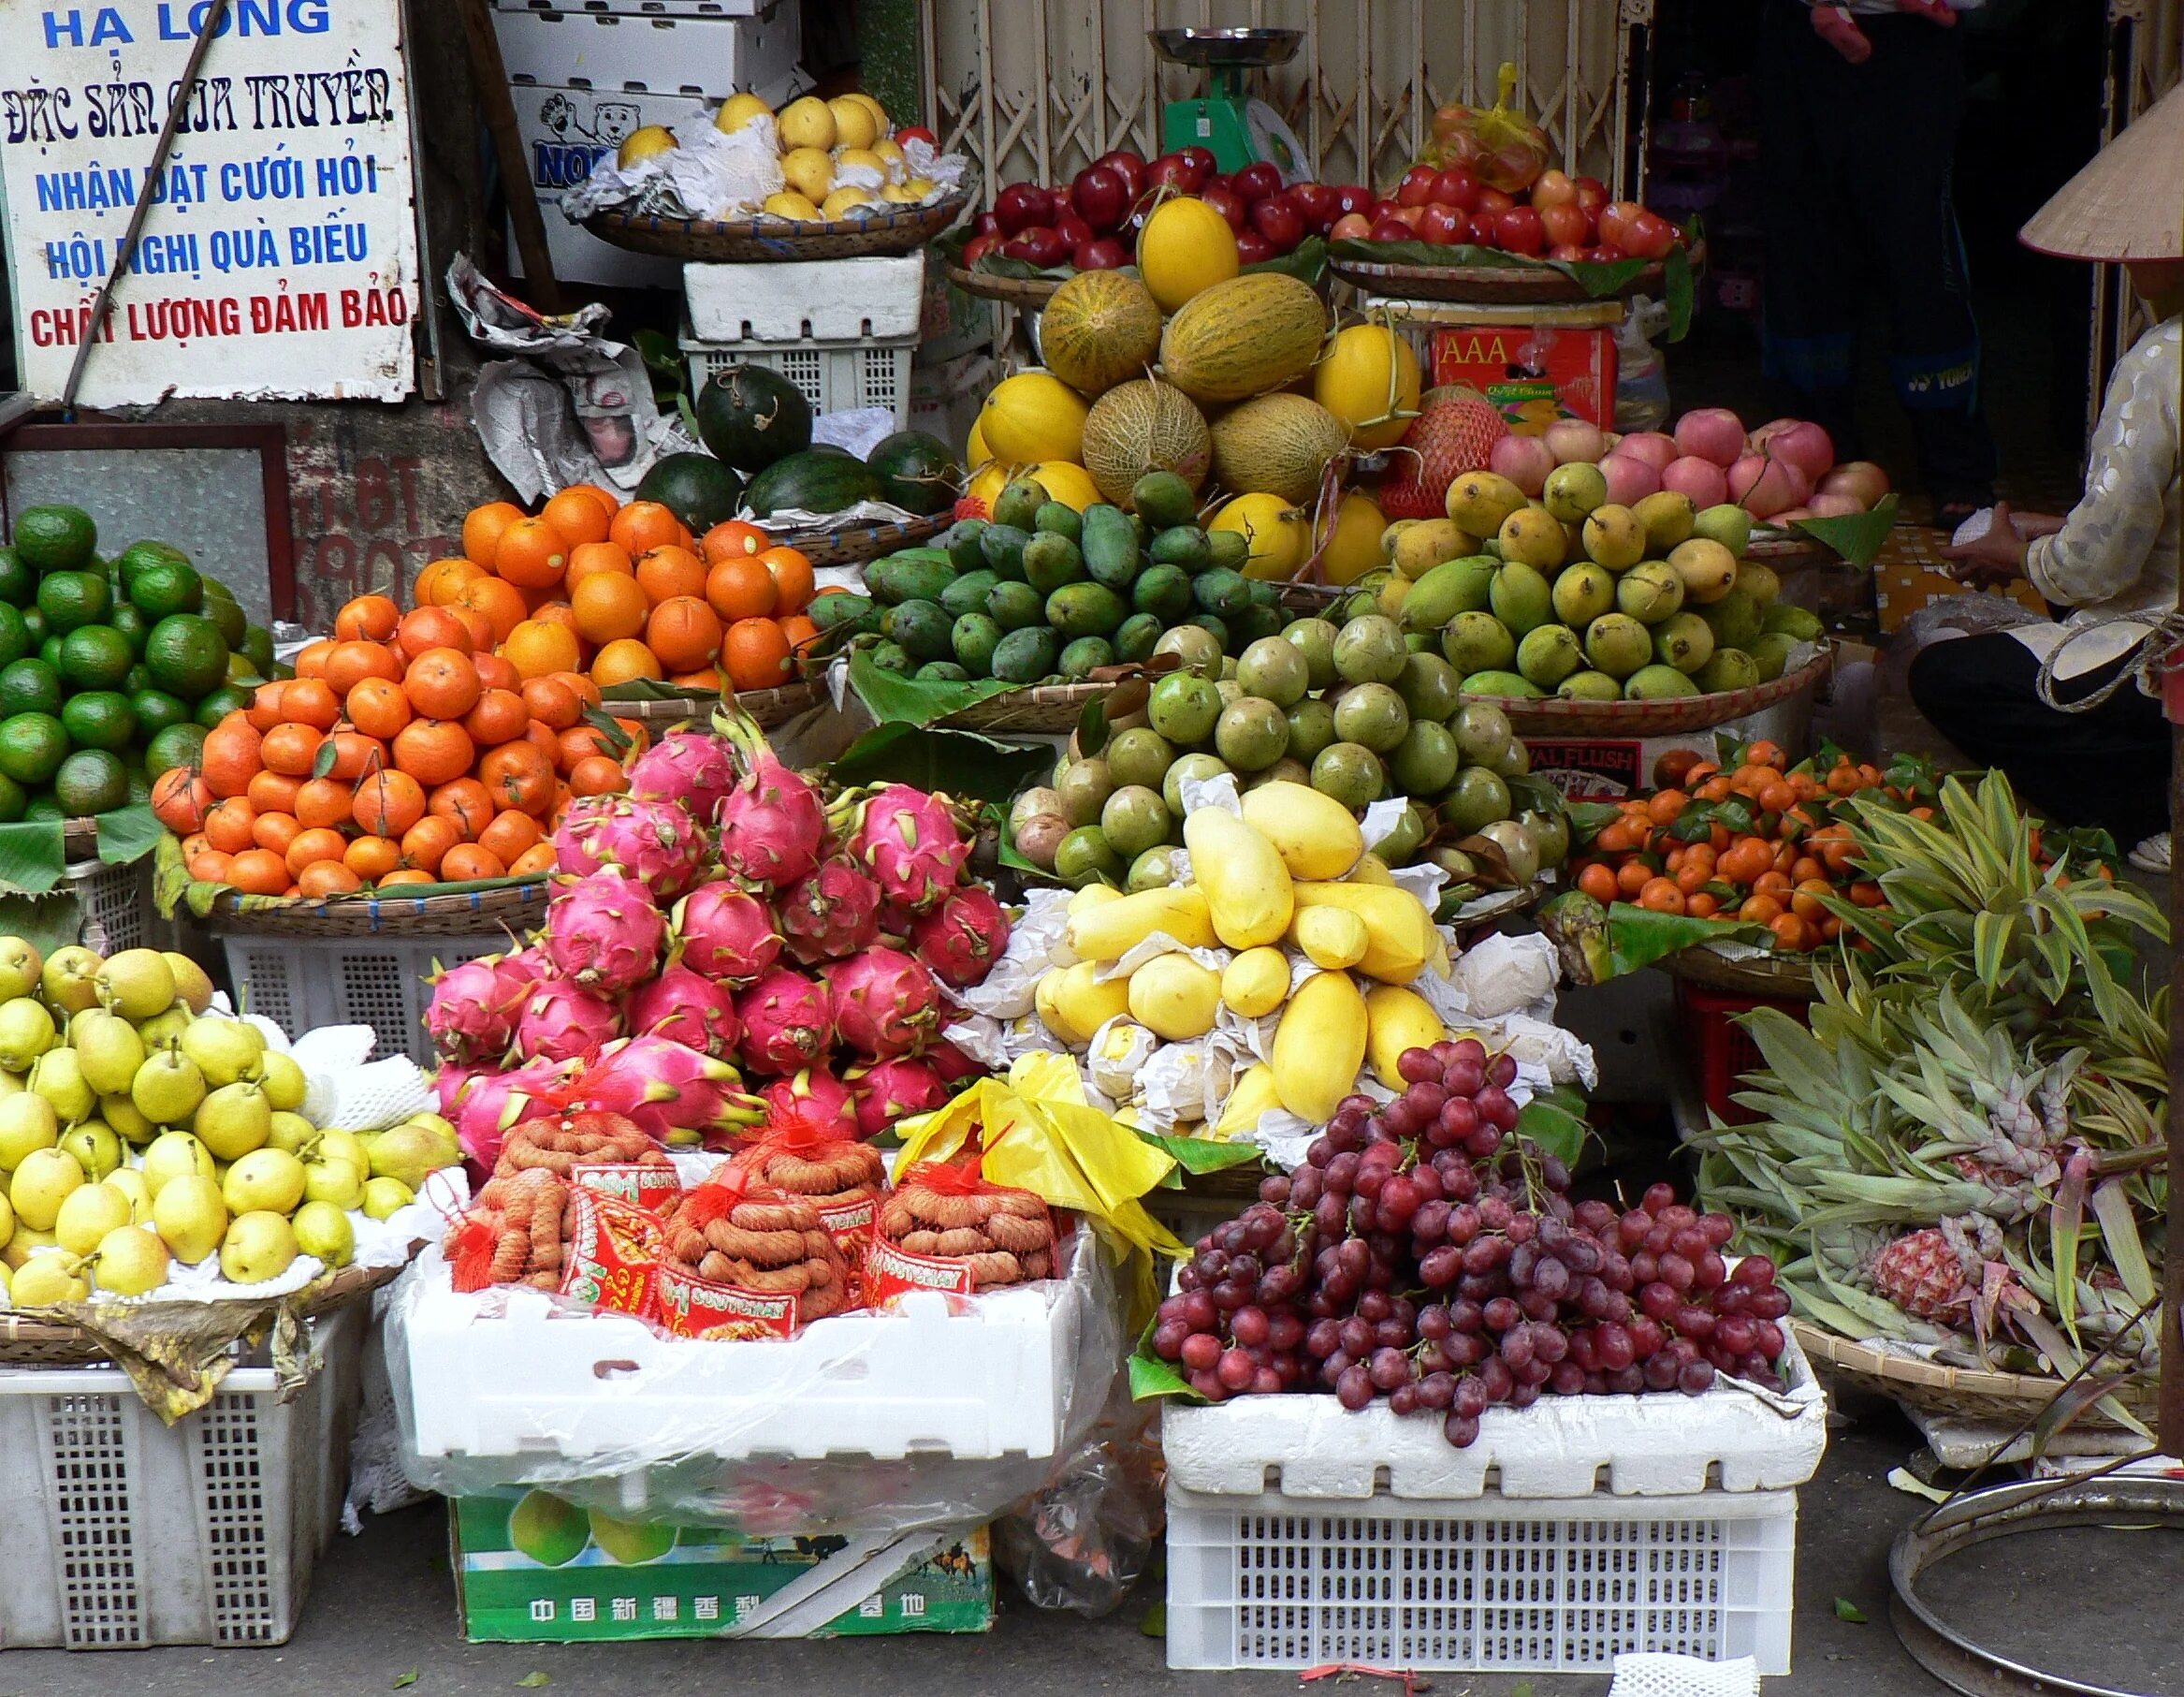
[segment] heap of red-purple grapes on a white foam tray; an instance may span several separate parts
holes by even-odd
[[[1411,1048],[1387,1105],[1345,1096],[1304,1166],[1199,1238],[1160,1304],[1153,1350],[1208,1402],[1330,1389],[1439,1413],[1455,1446],[1479,1415],[1542,1393],[1782,1389],[1773,1262],[1721,1247],[1728,1214],[1655,1184],[1638,1208],[1570,1203],[1570,1171],[1518,1142],[1516,1061],[1472,1037]]]

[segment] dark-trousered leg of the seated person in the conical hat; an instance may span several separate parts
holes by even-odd
[[[2064,684],[2092,695],[2127,660]],[[2105,826],[2129,850],[2169,826],[2169,723],[2125,684],[2088,712],[2040,701],[2040,662],[2007,633],[1935,642],[1911,662],[1911,701],[1972,760],[2001,767],[2018,799],[2066,826]]]

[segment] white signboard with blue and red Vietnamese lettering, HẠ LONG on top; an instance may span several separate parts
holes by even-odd
[[[59,400],[400,400],[419,310],[400,0],[0,0],[0,186],[22,387]],[[159,129],[183,116],[114,301]]]

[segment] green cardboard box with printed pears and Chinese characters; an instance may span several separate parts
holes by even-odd
[[[456,1599],[474,1645],[867,1638],[994,1625],[985,1527],[902,1540],[743,1538],[603,1522],[548,1492],[463,1496],[452,1509]],[[625,1559],[601,1546],[601,1533]]]

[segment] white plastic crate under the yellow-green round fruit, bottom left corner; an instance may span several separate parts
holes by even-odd
[[[367,1308],[312,1326],[293,1402],[236,1367],[175,1426],[120,1367],[0,1369],[0,1645],[284,1645],[341,1522]]]

